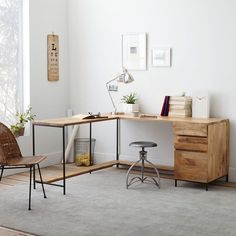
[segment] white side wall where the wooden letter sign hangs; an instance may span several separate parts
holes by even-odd
[[[67,1],[29,1],[30,103],[36,119],[63,117],[69,102]],[[60,79],[47,80],[47,34],[59,35]],[[48,155],[47,163],[61,158],[61,130],[36,127],[36,152]],[[32,136],[19,138],[24,155],[32,154]]]

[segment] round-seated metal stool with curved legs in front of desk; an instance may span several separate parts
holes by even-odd
[[[144,148],[150,148],[150,147],[156,147],[157,144],[153,143],[153,142],[132,142],[129,144],[129,146],[131,147],[140,147],[142,148],[141,151],[139,151],[139,160],[136,161],[132,166],[130,166],[127,174],[126,174],[126,188],[128,189],[128,187],[130,185],[132,185],[133,183],[136,183],[138,181],[141,181],[142,183],[144,182],[148,182],[148,183],[153,183],[155,184],[157,187],[160,188],[160,175],[159,172],[157,170],[157,168],[154,166],[154,164],[152,164],[150,161],[147,160],[147,152],[144,150]],[[139,176],[135,176],[133,178],[131,178],[129,180],[129,174],[130,171],[133,169],[133,167],[138,164],[140,161],[142,161],[142,165],[141,165],[141,177]],[[147,162],[148,164],[150,164],[153,169],[156,172],[156,178],[152,177],[152,176],[144,176],[144,162]]]

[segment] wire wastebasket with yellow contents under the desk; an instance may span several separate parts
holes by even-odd
[[[77,166],[90,166],[93,164],[94,147],[96,139],[91,139],[91,162],[89,155],[89,138],[76,138],[75,139],[75,164]]]

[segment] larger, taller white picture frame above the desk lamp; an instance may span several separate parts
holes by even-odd
[[[147,69],[147,34],[122,35],[122,66],[127,70]]]

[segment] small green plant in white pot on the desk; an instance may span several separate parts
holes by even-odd
[[[137,95],[136,93],[130,93],[128,95],[124,95],[121,101],[124,103],[123,109],[125,113],[134,113],[139,111],[139,104],[137,103]]]

